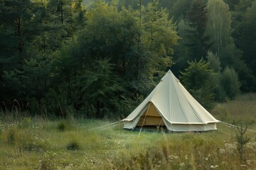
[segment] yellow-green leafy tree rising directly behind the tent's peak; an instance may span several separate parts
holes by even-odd
[[[176,33],[176,26],[172,19],[168,18],[169,13],[159,7],[159,1],[147,4],[142,18],[142,44],[149,50],[149,69],[151,75],[159,74],[162,77],[165,70],[173,64],[174,45],[179,40]],[[151,77],[151,75],[149,75]]]

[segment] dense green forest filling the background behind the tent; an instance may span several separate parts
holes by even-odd
[[[256,91],[255,0],[0,0],[2,113],[123,118],[168,69],[207,109]]]

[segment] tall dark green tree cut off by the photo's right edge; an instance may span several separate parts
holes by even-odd
[[[251,71],[248,72],[248,68],[242,66],[245,74],[245,79],[240,76],[239,78],[242,82],[242,91],[255,91],[255,11],[256,3],[255,1],[241,0],[235,6],[235,11],[233,12],[233,38],[235,45],[242,50],[241,58],[245,61],[244,65],[249,67]],[[245,71],[246,70],[246,71]],[[252,76],[253,74],[253,76]],[[247,85],[251,84],[250,88],[247,89]],[[253,85],[252,85],[253,84]]]

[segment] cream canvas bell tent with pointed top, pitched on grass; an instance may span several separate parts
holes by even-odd
[[[169,70],[151,94],[123,119],[124,129],[165,126],[169,131],[216,130],[213,118]]]

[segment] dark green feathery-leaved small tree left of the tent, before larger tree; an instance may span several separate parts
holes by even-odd
[[[78,77],[78,88],[84,94],[82,98],[96,108],[96,115],[92,115],[95,118],[104,118],[108,112],[114,111],[119,105],[119,94],[124,91],[109,60],[96,61],[93,72]]]

